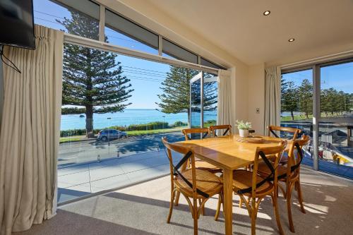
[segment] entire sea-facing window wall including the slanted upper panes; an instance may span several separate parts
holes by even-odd
[[[193,121],[198,126],[215,123],[217,76],[157,63],[157,56],[150,61],[127,55],[150,59],[163,52],[220,68],[216,64],[164,38],[160,44],[160,35],[109,9],[101,11],[104,7],[93,1],[34,0],[34,8],[37,24],[148,53],[92,49],[65,37],[59,203],[168,174],[162,135],[172,142],[183,140],[181,129],[194,126]],[[200,83],[193,84],[198,74]]]

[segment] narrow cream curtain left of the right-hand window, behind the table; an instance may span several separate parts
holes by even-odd
[[[281,71],[280,67],[266,68],[265,79],[265,130],[267,126],[280,126]]]

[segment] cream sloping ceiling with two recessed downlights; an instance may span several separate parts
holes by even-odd
[[[353,45],[353,0],[145,1],[249,65]]]

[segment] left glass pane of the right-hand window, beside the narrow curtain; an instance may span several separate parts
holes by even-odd
[[[300,128],[313,138],[313,71],[283,73],[281,79],[281,126]],[[282,138],[292,134],[281,132]],[[313,166],[313,143],[304,147],[304,164]]]

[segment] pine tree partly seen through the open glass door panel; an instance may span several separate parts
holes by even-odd
[[[158,106],[165,114],[177,114],[181,112],[188,113],[188,121],[190,123],[190,80],[199,72],[190,68],[180,68],[177,66],[170,66],[170,71],[167,73],[167,78],[162,82],[161,95]],[[205,77],[210,74],[205,73]],[[193,83],[195,88],[191,95],[192,100],[201,100],[200,83]],[[213,111],[217,109],[217,88],[213,83],[204,84],[204,100],[203,110]],[[201,110],[195,110],[200,112]]]

